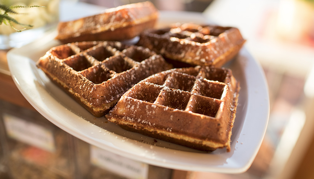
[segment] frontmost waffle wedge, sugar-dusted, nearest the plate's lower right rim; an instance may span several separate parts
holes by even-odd
[[[137,133],[193,149],[230,151],[240,85],[230,69],[175,68],[128,90],[106,115]]]

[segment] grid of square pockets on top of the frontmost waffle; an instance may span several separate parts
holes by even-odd
[[[212,80],[210,77],[201,78],[201,75],[202,71],[197,76],[172,72],[167,75],[165,80],[159,79],[160,81],[157,81],[157,83],[145,80],[147,83],[145,83],[146,89],[142,89],[143,94],[141,94],[142,91],[138,91],[138,96],[132,97],[147,102],[154,101],[152,104],[161,105],[165,108],[169,107],[216,117],[222,99],[227,92],[227,84],[225,84],[226,73],[221,78],[217,78],[217,80]],[[160,85],[163,81],[164,83]],[[158,87],[155,85],[158,85]],[[158,96],[148,95],[147,93],[158,94]],[[208,105],[199,105],[204,103]],[[208,107],[211,109],[208,109]]]

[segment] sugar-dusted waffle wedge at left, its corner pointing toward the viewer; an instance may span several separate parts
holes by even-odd
[[[96,117],[108,112],[140,80],[172,68],[147,48],[113,41],[53,47],[37,67]]]

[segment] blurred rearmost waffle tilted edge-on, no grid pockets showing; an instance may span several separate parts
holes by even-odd
[[[154,27],[158,10],[151,2],[133,3],[81,19],[60,22],[56,39],[77,41],[123,41]]]

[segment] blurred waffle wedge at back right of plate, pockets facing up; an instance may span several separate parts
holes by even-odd
[[[164,29],[144,31],[138,45],[172,62],[221,67],[239,52],[244,42],[240,31],[234,27],[177,23]]]

